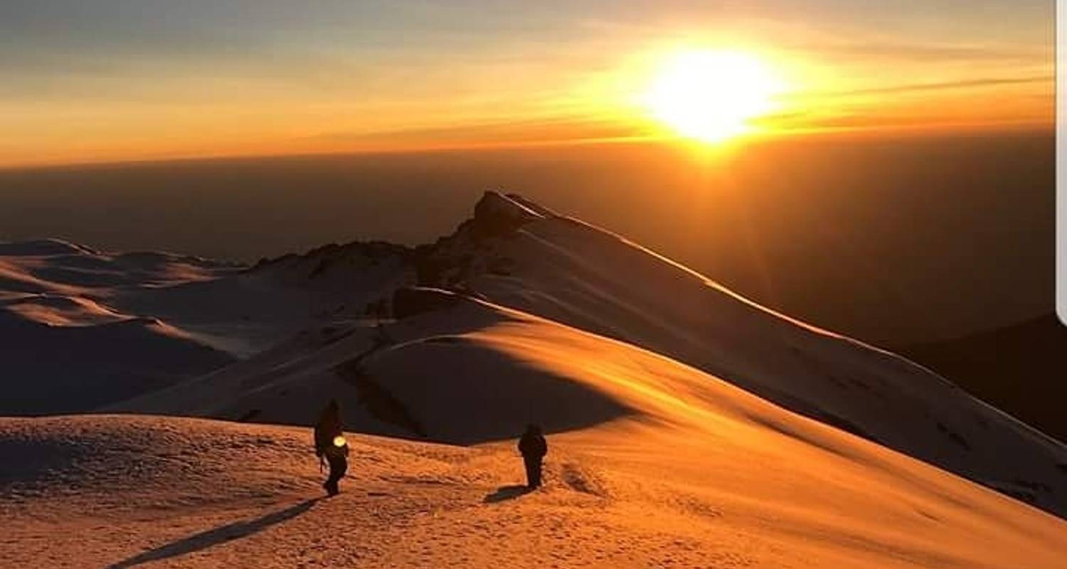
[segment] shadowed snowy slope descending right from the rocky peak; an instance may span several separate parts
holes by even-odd
[[[775,314],[521,196],[487,193],[472,220],[420,251],[419,279],[641,346],[1067,515],[1061,443],[928,369]]]

